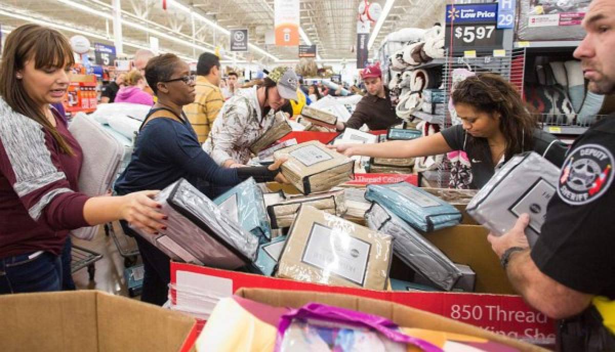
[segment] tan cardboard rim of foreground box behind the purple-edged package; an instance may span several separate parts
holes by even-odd
[[[416,308],[406,307],[404,305],[400,305],[399,303],[386,302],[378,299],[368,299],[355,295],[330,294],[324,292],[248,288],[237,290],[236,295],[274,307],[300,308],[311,302],[324,303],[334,305],[336,307],[382,316],[383,318],[387,318],[403,327],[440,330],[455,334],[465,334],[487,338],[488,340],[517,348],[520,351],[544,351],[538,346],[494,334],[493,332],[489,332],[469,324],[459,323],[458,321],[447,319],[443,316],[418,310]]]

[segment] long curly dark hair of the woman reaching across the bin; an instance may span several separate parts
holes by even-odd
[[[453,104],[467,104],[476,111],[500,117],[499,128],[506,138],[506,155],[531,150],[538,121],[517,89],[498,74],[479,73],[459,82],[451,96]]]

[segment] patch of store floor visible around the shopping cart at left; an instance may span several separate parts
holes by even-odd
[[[119,225],[117,223],[114,224],[114,228],[119,229]],[[132,239],[125,238],[122,233],[117,233],[117,237],[121,243],[134,244]],[[74,239],[73,245],[90,249],[103,255],[95,263],[94,280],[90,281],[87,268],[82,268],[73,273],[73,280],[77,289],[97,289],[111,294],[129,296],[124,280],[124,257],[122,257],[117,249],[113,238],[105,235],[102,227],[92,241]],[[134,246],[136,248],[136,244]]]

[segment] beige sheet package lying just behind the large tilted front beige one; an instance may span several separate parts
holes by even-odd
[[[267,207],[267,213],[269,214],[269,219],[271,219],[271,227],[274,229],[290,227],[293,221],[295,221],[297,211],[299,211],[301,205],[310,205],[337,216],[343,216],[346,213],[346,200],[344,200],[344,192],[341,190],[300,197],[288,197]]]

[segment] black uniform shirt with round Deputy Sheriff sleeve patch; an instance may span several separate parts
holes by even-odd
[[[576,291],[615,299],[615,114],[579,137],[561,170],[557,196],[531,257],[545,275]]]

